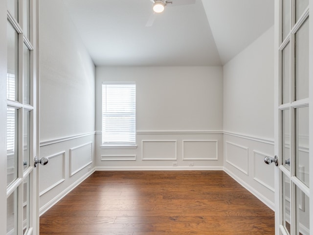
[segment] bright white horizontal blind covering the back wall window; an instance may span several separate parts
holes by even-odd
[[[136,85],[102,84],[102,144],[135,145]]]

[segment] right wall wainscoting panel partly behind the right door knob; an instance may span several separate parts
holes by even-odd
[[[253,179],[274,192],[274,164],[266,164],[265,157],[269,155],[253,151]]]

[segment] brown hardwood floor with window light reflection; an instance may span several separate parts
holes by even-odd
[[[274,212],[224,171],[96,171],[41,235],[274,235]]]

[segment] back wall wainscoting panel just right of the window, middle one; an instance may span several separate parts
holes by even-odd
[[[177,141],[142,141],[142,160],[177,160]]]

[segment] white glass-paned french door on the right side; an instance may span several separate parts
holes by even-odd
[[[275,0],[276,235],[313,235],[310,1]]]

